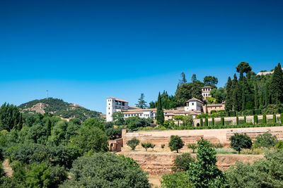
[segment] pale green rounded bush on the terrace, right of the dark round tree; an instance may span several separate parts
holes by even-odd
[[[277,144],[276,136],[272,136],[272,134],[265,132],[264,134],[258,134],[255,137],[255,146],[256,147],[266,147],[271,148]]]

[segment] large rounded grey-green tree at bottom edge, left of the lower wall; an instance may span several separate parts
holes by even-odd
[[[71,180],[61,187],[149,187],[146,173],[137,162],[114,153],[94,153],[78,158],[70,172]]]

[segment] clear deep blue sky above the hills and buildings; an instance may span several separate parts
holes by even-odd
[[[175,94],[283,62],[283,1],[0,1],[0,103],[50,96],[105,113],[108,96]]]

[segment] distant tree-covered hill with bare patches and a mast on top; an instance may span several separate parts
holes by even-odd
[[[18,106],[23,113],[52,113],[61,118],[71,119],[79,118],[86,120],[87,118],[94,118],[103,116],[102,113],[91,111],[78,104],[69,104],[62,99],[40,99],[29,101]]]

